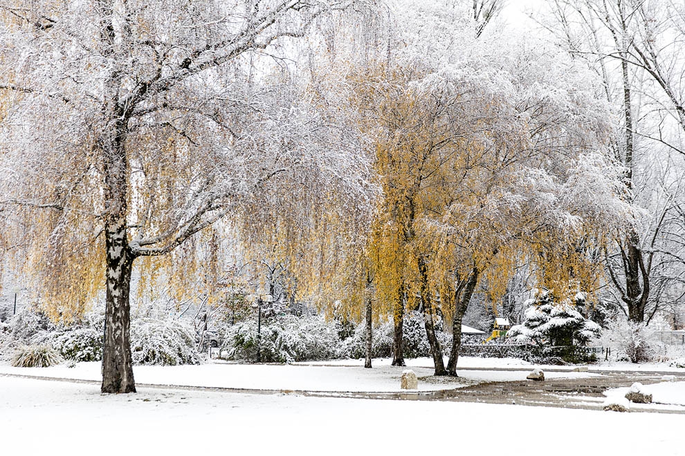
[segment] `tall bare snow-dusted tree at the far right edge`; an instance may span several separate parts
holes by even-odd
[[[628,319],[649,321],[684,274],[682,187],[685,84],[680,1],[554,0],[550,30],[594,68],[617,113],[612,149],[623,162],[646,223],[607,251],[612,301]],[[679,225],[679,226],[678,226]],[[677,266],[674,268],[674,266]],[[668,283],[668,285],[666,285]],[[672,301],[671,301],[672,302]]]

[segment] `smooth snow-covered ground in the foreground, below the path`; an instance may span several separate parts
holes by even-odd
[[[684,415],[150,390],[0,377],[21,455],[685,455]]]

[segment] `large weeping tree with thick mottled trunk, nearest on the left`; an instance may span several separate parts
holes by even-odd
[[[3,5],[3,253],[20,247],[15,260],[57,319],[81,314],[104,285],[103,392],[135,391],[136,259],[167,256],[190,276],[199,263],[184,257],[197,249],[183,246],[219,220],[250,226],[267,189],[323,178],[363,193],[354,134],[259,57],[355,3]]]

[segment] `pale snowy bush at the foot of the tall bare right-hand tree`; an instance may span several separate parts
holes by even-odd
[[[655,336],[645,323],[635,323],[617,316],[608,324],[602,343],[617,350],[617,359],[631,363],[645,363],[654,359]]]

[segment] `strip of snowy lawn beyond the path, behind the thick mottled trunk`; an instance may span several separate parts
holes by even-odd
[[[426,359],[427,360],[427,359]],[[433,369],[422,360],[412,360],[412,368],[419,376],[419,390],[459,388],[474,381],[524,380],[527,370],[459,370],[459,379],[431,377]],[[354,360],[353,360],[354,361]],[[259,390],[309,390],[387,392],[400,390],[400,377],[406,368],[377,361],[373,369],[361,365],[282,365],[211,363],[203,365],[134,367],[136,382],[154,385],[207,386]],[[422,367],[423,366],[423,367]],[[502,367],[502,366],[500,366]],[[532,369],[531,369],[532,370]],[[37,377],[58,377],[98,381],[100,363],[77,363],[75,368],[58,365],[52,368],[12,368],[0,365],[0,373],[23,374]],[[590,377],[588,372],[546,372],[547,378]],[[425,377],[430,377],[424,379]]]

